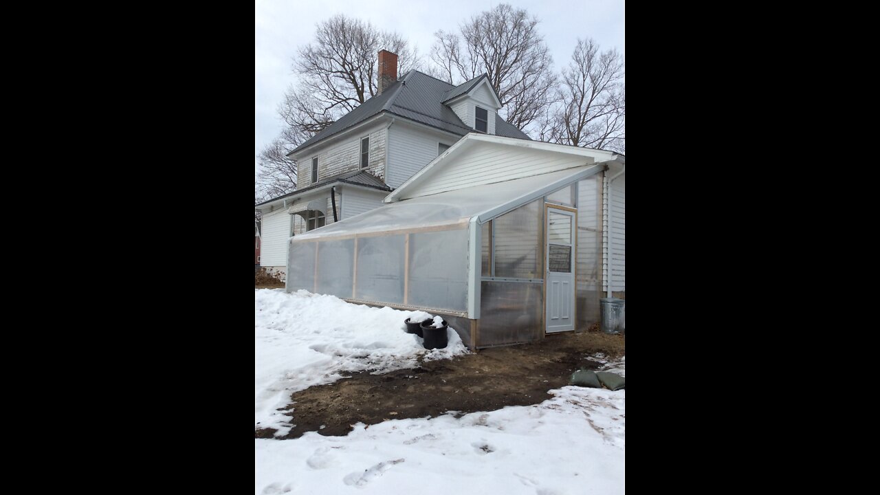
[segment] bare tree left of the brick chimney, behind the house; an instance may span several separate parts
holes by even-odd
[[[278,106],[282,134],[258,156],[255,195],[281,196],[297,187],[297,164],[287,153],[378,93],[378,52],[398,55],[400,74],[418,65],[418,55],[397,33],[380,31],[339,14],[316,26],[312,43],[297,49],[290,85]]]

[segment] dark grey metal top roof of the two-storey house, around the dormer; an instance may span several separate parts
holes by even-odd
[[[410,70],[402,78],[398,79],[397,82],[388,86],[382,94],[364,101],[359,107],[356,107],[346,115],[342,115],[339,120],[330,124],[315,136],[307,139],[293,151],[290,151],[288,156],[297,151],[303,151],[312,146],[312,144],[317,144],[327,137],[339,134],[343,130],[349,129],[383,112],[414,122],[420,122],[436,129],[443,129],[458,136],[464,136],[468,132],[473,132],[473,129],[469,128],[465,122],[461,122],[458,115],[455,115],[455,112],[450,107],[444,105],[444,101],[449,100],[451,91],[462,88],[462,92],[456,95],[460,96],[464,92],[473,89],[482,78],[487,78],[488,80],[488,77],[483,74],[462,85],[453,86],[445,81],[423,74],[418,70]],[[502,125],[497,125],[498,122],[502,122]],[[517,129],[508,122],[504,122],[497,114],[495,115],[495,123],[495,132],[502,136],[531,139],[520,129]],[[502,128],[503,134],[499,128]]]

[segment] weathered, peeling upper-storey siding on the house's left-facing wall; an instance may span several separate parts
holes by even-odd
[[[300,189],[312,185],[312,159],[318,157],[318,181],[348,172],[361,170],[361,139],[370,137],[370,161],[369,166],[364,168],[366,172],[377,176],[385,181],[385,124],[381,127],[370,126],[355,132],[345,141],[332,146],[319,149],[312,153],[305,153],[297,159],[297,186]]]

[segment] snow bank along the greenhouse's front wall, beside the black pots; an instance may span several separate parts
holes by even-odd
[[[283,289],[254,289],[254,421],[262,428],[290,432],[279,408],[298,390],[339,380],[341,373],[386,373],[414,367],[417,359],[465,354],[461,338],[449,329],[445,349],[426,351],[422,338],[403,323],[430,318],[422,311],[349,304],[334,296]]]

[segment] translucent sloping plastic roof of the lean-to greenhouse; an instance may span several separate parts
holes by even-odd
[[[411,231],[426,227],[466,228],[473,218],[482,224],[556,189],[603,170],[605,165],[576,166],[549,174],[461,188],[432,196],[387,203],[355,217],[298,234],[293,240],[315,240],[361,233]]]

